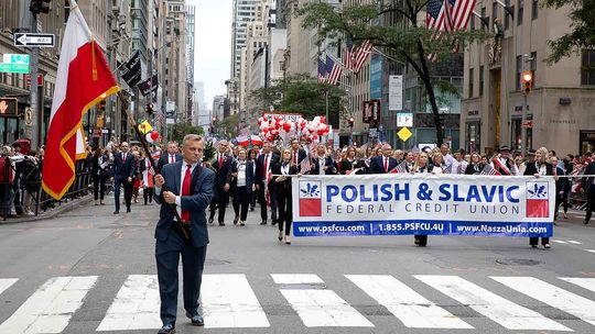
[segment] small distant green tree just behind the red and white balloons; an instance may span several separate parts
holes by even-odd
[[[263,110],[273,105],[275,110],[299,112],[303,113],[304,118],[312,119],[326,113],[326,92],[328,92],[328,121],[337,126],[340,99],[345,96],[345,91],[337,86],[321,84],[317,78],[306,74],[274,80],[271,87],[252,91],[250,99]]]

